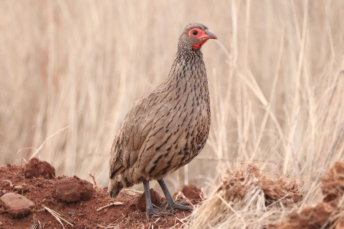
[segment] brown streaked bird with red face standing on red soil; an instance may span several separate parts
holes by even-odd
[[[123,188],[143,183],[148,221],[162,211],[152,206],[152,180],[161,186],[162,206],[170,214],[192,210],[174,201],[163,179],[195,158],[208,138],[210,99],[201,50],[208,39],[217,37],[201,23],[183,29],[166,77],[130,106],[111,147],[109,195],[116,198]]]

